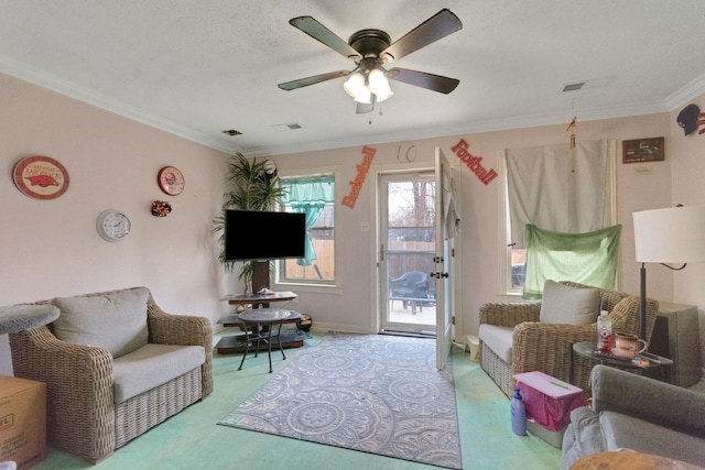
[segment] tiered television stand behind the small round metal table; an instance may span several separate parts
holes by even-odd
[[[290,291],[274,292],[272,294],[232,294],[226,295],[220,300],[227,302],[230,305],[251,305],[252,308],[268,308],[270,303],[289,302],[296,298],[297,295]],[[296,320],[284,321],[295,323]],[[240,327],[242,321],[237,315],[228,315],[218,320],[224,327]],[[245,352],[246,350],[246,335],[228,335],[218,340],[216,345],[216,352],[218,354],[232,354],[236,352]],[[264,345],[263,345],[264,346]],[[285,330],[282,330],[282,348],[301,348],[304,346],[304,341],[301,338],[292,337],[288,335]]]

